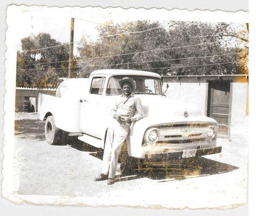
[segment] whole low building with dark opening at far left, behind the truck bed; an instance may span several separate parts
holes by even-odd
[[[37,112],[39,93],[55,96],[56,89],[16,87],[15,112]]]

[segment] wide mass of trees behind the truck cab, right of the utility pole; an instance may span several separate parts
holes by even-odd
[[[136,21],[100,26],[98,32],[96,41],[84,36],[80,42],[78,76],[89,76],[96,69],[147,70],[160,75],[242,72],[240,49],[230,43],[237,35],[228,23]]]

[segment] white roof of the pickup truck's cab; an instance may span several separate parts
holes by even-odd
[[[106,69],[106,70],[96,70],[91,72],[91,75],[137,75],[137,76],[149,76],[161,78],[157,73],[139,70],[123,70],[123,69]]]

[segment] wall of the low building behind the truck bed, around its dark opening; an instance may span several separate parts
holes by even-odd
[[[16,88],[16,100],[15,100],[15,112],[24,112],[24,102],[25,97],[35,97],[36,98],[36,112],[38,106],[38,94],[43,93],[46,95],[55,96],[55,89],[32,89],[32,88]]]

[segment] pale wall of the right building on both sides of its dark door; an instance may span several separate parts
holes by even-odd
[[[169,98],[184,103],[197,105],[200,111],[207,115],[207,80],[218,80],[216,77],[206,77],[204,80],[196,77],[166,77],[163,79],[163,89],[169,88],[166,95]],[[224,77],[223,77],[224,78]],[[228,137],[234,139],[248,130],[248,79],[244,77],[225,77],[231,82],[231,97],[229,98],[229,132]],[[200,83],[201,81],[201,83]]]

